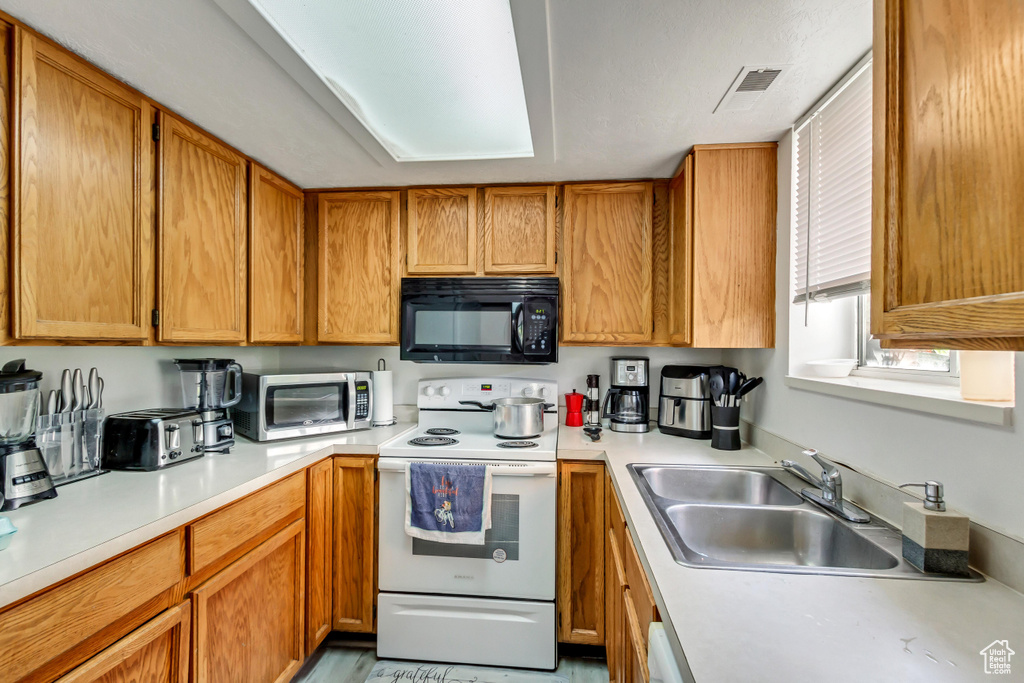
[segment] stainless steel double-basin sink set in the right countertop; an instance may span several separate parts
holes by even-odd
[[[675,560],[686,566],[781,573],[981,581],[926,574],[902,557],[900,531],[854,524],[796,493],[782,468],[629,465]]]

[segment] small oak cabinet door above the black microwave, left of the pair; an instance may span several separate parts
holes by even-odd
[[[472,275],[476,272],[476,188],[409,190],[407,271]]]

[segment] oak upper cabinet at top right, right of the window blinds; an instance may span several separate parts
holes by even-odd
[[[1024,349],[1024,4],[876,0],[873,45],[871,333]]]

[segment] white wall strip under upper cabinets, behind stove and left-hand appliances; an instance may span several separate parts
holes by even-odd
[[[394,371],[394,400],[416,403],[416,381],[421,377],[512,375],[555,379],[559,392],[573,388],[586,391],[587,375],[601,375],[601,390],[608,387],[609,358],[613,355],[641,355],[651,360],[651,377],[662,366],[672,362],[717,364],[717,349],[599,348],[562,347],[558,364],[551,366],[420,365],[398,360],[396,346],[305,346],[305,347],[136,347],[136,346],[24,346],[6,347],[0,365],[25,358],[26,366],[43,373],[45,392],[58,388],[60,371],[81,368],[84,375],[95,367],[104,381],[103,409],[108,414],[142,408],[181,405],[181,383],[174,358],[234,358],[243,368],[254,370],[301,370],[336,368],[375,370],[384,358]],[[655,380],[656,383],[656,380]],[[656,396],[656,393],[654,394]],[[559,403],[564,399],[559,397]]]

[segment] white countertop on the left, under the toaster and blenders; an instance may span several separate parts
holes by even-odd
[[[412,423],[270,443],[239,437],[156,472],[111,472],[57,488],[57,497],[3,513],[17,532],[0,551],[0,607],[130,550],[298,472],[332,454],[378,452]]]

